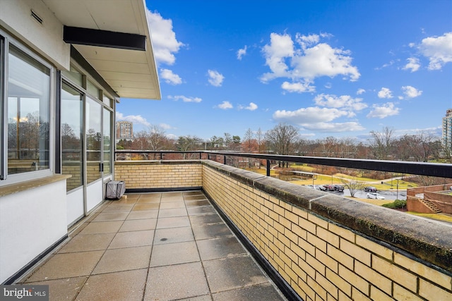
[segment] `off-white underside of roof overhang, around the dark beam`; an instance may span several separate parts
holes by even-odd
[[[146,50],[73,44],[119,97],[161,99],[144,0],[42,0],[66,26],[146,36]]]

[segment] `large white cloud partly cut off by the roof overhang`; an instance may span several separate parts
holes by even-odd
[[[172,65],[176,61],[174,54],[184,46],[184,43],[177,41],[176,33],[172,30],[171,19],[164,19],[157,12],[147,11],[146,13],[157,66],[160,63]]]

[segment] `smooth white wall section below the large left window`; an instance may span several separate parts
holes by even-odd
[[[0,283],[67,235],[66,179],[0,197]]]

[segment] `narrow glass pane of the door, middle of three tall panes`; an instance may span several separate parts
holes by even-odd
[[[102,106],[93,99],[86,99],[86,181],[100,178],[101,114]]]

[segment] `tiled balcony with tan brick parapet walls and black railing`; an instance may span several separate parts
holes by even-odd
[[[80,300],[93,298],[102,292],[105,294],[109,291],[108,283],[118,283],[114,286],[118,294],[136,293],[137,297],[133,300],[153,300],[154,297],[160,297],[161,300],[184,297],[223,300],[221,294],[225,294],[225,300],[283,299],[278,290],[288,300],[452,298],[452,226],[447,223],[292,185],[224,163],[231,156],[248,156],[261,160],[298,160],[452,178],[448,164],[219,152],[198,152],[194,154],[197,159],[190,160],[165,160],[164,156],[167,154],[157,155],[156,160],[115,162],[115,177],[126,181],[128,198],[103,204],[73,233],[77,235],[71,235],[66,245],[23,281],[37,284],[52,278],[52,281],[60,283],[50,287],[52,292],[52,288],[57,289],[63,283],[69,285],[71,281],[64,282],[67,278],[78,279],[81,283],[73,283],[73,287],[77,288],[79,293],[76,296]],[[222,163],[213,160],[219,158]],[[153,221],[155,228],[149,228],[149,224],[146,226],[148,228],[140,228],[138,223],[141,222],[131,221],[129,216],[143,214],[139,211],[157,211],[158,205],[150,202],[153,195],[160,195],[158,213],[153,213],[157,216],[143,219],[156,219]],[[170,199],[176,196],[177,200],[171,202]],[[164,210],[181,209],[174,206],[183,206],[186,216],[165,216]],[[220,217],[217,217],[217,213]],[[111,233],[107,231],[104,235],[107,238],[102,242],[104,245],[97,250],[100,247],[95,244],[91,246],[93,240],[87,240],[86,236],[102,234],[88,232],[97,223],[115,222],[104,220],[104,216],[121,216],[117,220],[121,226]],[[166,219],[177,223],[171,225]],[[142,231],[154,231],[154,234],[148,235],[148,240],[143,242],[145,239],[135,238],[139,234],[134,233]],[[165,231],[166,235],[159,234]],[[184,231],[187,232],[184,234]],[[170,233],[174,237],[188,235],[189,238],[177,241]],[[235,237],[239,238],[246,251],[242,250]],[[230,242],[220,242],[225,238],[230,238]],[[131,242],[132,245],[121,245],[124,242]],[[194,254],[198,253],[199,258],[182,258],[188,261],[177,262],[177,256],[172,256],[172,252],[184,250],[181,245],[176,245],[182,242],[191,245],[191,250],[196,246]],[[85,250],[86,247],[91,249]],[[142,248],[142,251],[135,250],[133,258],[137,262],[127,262],[119,255],[129,247]],[[169,249],[164,250],[165,247]],[[226,251],[230,247],[233,250]],[[78,260],[75,257],[67,260],[62,258],[80,252],[95,254],[94,258],[86,257],[90,266],[81,274],[64,274],[61,266]],[[210,252],[215,255],[209,257],[207,254]],[[189,252],[183,254],[191,257]],[[249,254],[266,274],[258,272],[260,269],[251,263],[253,261]],[[59,258],[61,262],[57,261]],[[82,258],[83,264],[72,266],[72,270],[85,266],[85,257]],[[142,262],[138,263],[138,259]],[[232,264],[235,259],[249,262],[251,266],[246,267],[237,262]],[[213,267],[215,261],[222,265]],[[146,265],[148,262],[149,266]],[[54,264],[58,269],[46,268],[47,264]],[[188,265],[197,268],[184,269]],[[151,271],[157,273],[152,274]],[[115,278],[115,273],[124,274],[124,278]],[[131,276],[126,274],[139,273],[141,281],[121,280],[130,279]],[[147,280],[143,280],[145,275],[148,275]],[[186,285],[187,279],[181,275],[190,275],[192,281]],[[271,281],[268,281],[267,276]],[[123,288],[119,283],[130,286]],[[273,287],[273,283],[278,286],[278,290]],[[153,295],[153,289],[159,293]],[[254,295],[261,294],[257,292],[262,291],[257,289],[266,290],[264,294],[268,298]],[[169,295],[162,295],[164,290]],[[172,290],[189,290],[191,293],[184,295],[172,293]],[[255,290],[254,293],[251,290]],[[88,291],[93,295],[85,295]],[[251,299],[237,297],[240,294]]]

